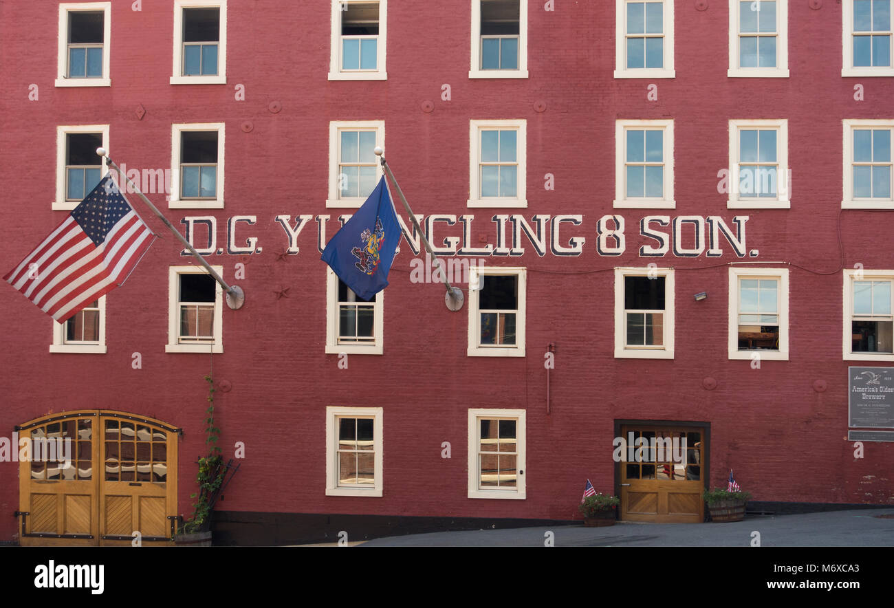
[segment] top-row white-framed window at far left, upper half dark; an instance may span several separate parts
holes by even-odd
[[[57,87],[111,87],[112,3],[59,4]]]

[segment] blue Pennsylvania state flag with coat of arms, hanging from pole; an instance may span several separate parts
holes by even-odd
[[[335,232],[320,258],[364,300],[388,286],[388,271],[401,240],[385,178],[342,229]]]

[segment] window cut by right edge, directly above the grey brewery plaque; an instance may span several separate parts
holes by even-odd
[[[844,271],[844,359],[894,361],[894,270]]]

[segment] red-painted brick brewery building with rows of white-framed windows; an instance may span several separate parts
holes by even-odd
[[[882,391],[894,361],[889,0],[2,1],[0,24],[3,265],[102,145],[246,294],[136,195],[162,240],[95,307],[60,325],[0,290],[0,539],[165,542],[208,375],[240,463],[219,542],[578,519],[587,478],[621,519],[702,520],[730,469],[769,511],[894,503],[890,404],[848,417],[848,367]],[[319,260],[376,145],[473,267],[457,312],[400,205],[375,302]],[[26,435],[76,465],[14,462]],[[617,462],[630,436],[687,445]]]

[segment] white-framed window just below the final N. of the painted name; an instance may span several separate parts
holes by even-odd
[[[730,359],[789,360],[789,270],[730,267]]]

